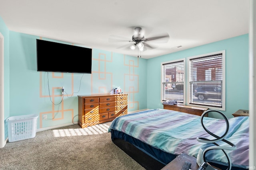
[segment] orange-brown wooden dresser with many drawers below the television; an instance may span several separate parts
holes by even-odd
[[[128,94],[78,96],[78,125],[82,128],[126,115]]]

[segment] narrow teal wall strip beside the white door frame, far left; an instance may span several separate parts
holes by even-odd
[[[4,36],[4,119],[7,119],[10,116],[10,38],[9,29],[1,17],[0,33]],[[7,138],[7,127],[5,127],[5,136]]]

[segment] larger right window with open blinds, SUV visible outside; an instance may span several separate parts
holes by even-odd
[[[225,51],[190,57],[189,104],[225,109]]]

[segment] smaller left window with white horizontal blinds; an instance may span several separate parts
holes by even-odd
[[[184,103],[184,59],[162,63],[162,101]]]

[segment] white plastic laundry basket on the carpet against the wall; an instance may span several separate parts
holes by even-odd
[[[8,141],[15,142],[35,137],[37,118],[36,114],[8,117]]]

